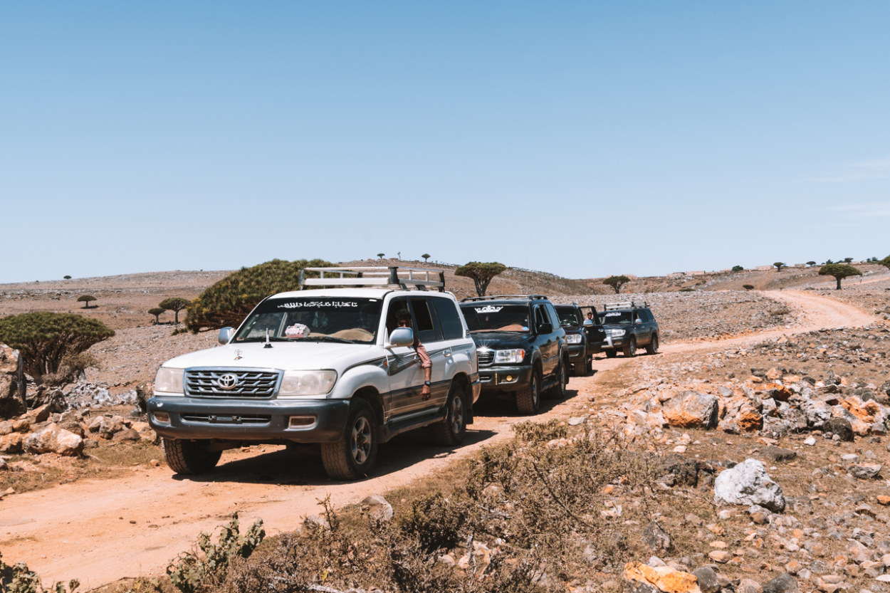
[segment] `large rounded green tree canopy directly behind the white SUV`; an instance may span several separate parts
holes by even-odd
[[[265,264],[241,268],[207,288],[187,307],[185,326],[200,329],[238,327],[266,296],[297,290],[303,268],[333,267],[323,259],[287,262],[273,259]],[[306,272],[306,278],[318,278],[318,272]]]

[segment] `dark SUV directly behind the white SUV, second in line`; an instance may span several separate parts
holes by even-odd
[[[564,396],[569,349],[546,296],[465,298],[460,309],[476,343],[482,395],[514,396],[522,414],[538,413],[544,391]]]

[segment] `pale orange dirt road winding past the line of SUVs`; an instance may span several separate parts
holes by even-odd
[[[719,343],[668,344],[665,353],[692,352],[756,342],[765,337],[821,328],[873,323],[868,313],[837,301],[797,291],[772,292],[803,311],[795,329],[730,338]],[[719,345],[717,345],[719,344]],[[643,359],[600,359],[597,370]],[[569,397],[545,401],[538,420],[587,410],[597,392],[597,375],[573,378]],[[132,476],[110,481],[80,480],[56,488],[7,497],[0,502],[0,550],[7,562],[24,561],[48,585],[79,579],[90,589],[123,577],[162,573],[169,559],[190,548],[198,533],[212,531],[238,510],[242,524],[262,516],[266,531],[292,531],[303,516],[319,512],[328,494],[336,506],[371,493],[422,479],[481,446],[505,440],[511,426],[526,418],[505,402],[481,402],[464,446],[442,450],[423,431],[401,435],[380,448],[375,477],[356,483],[328,480],[320,459],[279,447],[227,452],[220,467],[197,478],[173,475],[164,467],[134,468]]]

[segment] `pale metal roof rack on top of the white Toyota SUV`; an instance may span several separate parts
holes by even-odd
[[[319,272],[320,278],[306,278],[303,272]],[[328,274],[327,276],[325,274]],[[438,278],[438,280],[432,280]],[[353,288],[401,288],[409,286],[417,290],[438,288],[445,292],[445,272],[425,268],[400,268],[397,265],[378,265],[357,268],[303,268],[300,270],[300,288],[306,286],[353,287]]]

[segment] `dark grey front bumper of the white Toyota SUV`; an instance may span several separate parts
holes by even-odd
[[[198,397],[152,397],[149,424],[168,439],[222,439],[295,443],[336,443],[343,438],[349,400],[216,400]],[[166,412],[169,422],[158,422]],[[308,426],[289,427],[291,416],[315,417]]]

